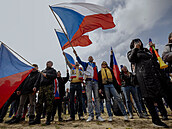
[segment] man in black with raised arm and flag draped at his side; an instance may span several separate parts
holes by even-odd
[[[56,110],[58,107],[58,117],[59,121],[63,121],[61,114],[62,114],[62,100],[65,96],[65,84],[69,80],[69,72],[67,69],[67,76],[61,77],[61,72],[57,72],[57,80],[55,80],[55,100],[53,103],[53,113],[52,113],[52,121],[54,121],[54,116],[56,115]]]

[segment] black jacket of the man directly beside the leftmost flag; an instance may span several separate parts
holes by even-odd
[[[21,94],[30,94],[33,93],[33,88],[39,89],[40,86],[41,74],[38,71],[31,72],[22,84],[18,87],[18,91],[21,91]]]

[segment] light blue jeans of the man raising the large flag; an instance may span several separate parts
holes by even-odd
[[[92,105],[92,91],[94,94],[95,100],[95,112],[96,117],[100,116],[100,101],[98,94],[98,82],[96,81],[86,81],[86,94],[87,94],[87,104],[88,104],[88,113],[89,116],[94,117],[93,105]]]

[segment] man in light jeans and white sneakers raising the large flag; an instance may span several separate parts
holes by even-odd
[[[93,112],[93,105],[92,105],[92,91],[95,98],[95,111],[96,111],[96,118],[98,121],[104,121],[104,119],[100,116],[100,100],[99,100],[99,93],[98,93],[98,70],[96,63],[93,62],[93,57],[89,56],[89,62],[83,62],[77,55],[76,51],[73,51],[77,61],[81,64],[85,71],[86,77],[86,94],[87,94],[87,102],[88,102],[88,112],[89,117],[86,120],[87,122],[92,121],[94,119],[94,112]]]

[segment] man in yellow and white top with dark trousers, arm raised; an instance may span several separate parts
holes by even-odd
[[[71,63],[66,58],[66,63],[71,69],[71,83],[70,83],[70,118],[69,121],[75,120],[75,108],[74,108],[74,98],[75,98],[75,91],[77,92],[77,99],[79,102],[79,111],[78,117],[80,120],[83,120],[83,109],[82,109],[82,86],[81,83],[83,82],[83,71],[82,68],[79,67],[79,63],[76,62],[75,66],[72,66]]]

